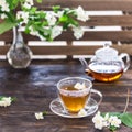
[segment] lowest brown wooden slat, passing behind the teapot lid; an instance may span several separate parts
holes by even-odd
[[[81,42],[80,42],[81,44]],[[0,55],[6,55],[10,46],[0,46]],[[30,46],[34,55],[94,55],[95,51],[102,46]],[[121,46],[113,45],[119,53],[125,52],[132,55],[132,44],[123,44]]]

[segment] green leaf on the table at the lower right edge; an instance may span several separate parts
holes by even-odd
[[[123,124],[132,128],[132,113],[124,112],[120,116],[120,118],[121,118],[121,121],[123,122]]]

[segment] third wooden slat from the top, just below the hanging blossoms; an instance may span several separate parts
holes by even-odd
[[[3,36],[0,40],[6,40],[7,43],[12,42],[11,36]],[[38,41],[38,37],[31,35],[24,35],[24,41]],[[76,41],[73,32],[65,32],[56,41]],[[88,31],[85,32],[85,35],[80,41],[122,41],[122,42],[132,42],[132,31]]]

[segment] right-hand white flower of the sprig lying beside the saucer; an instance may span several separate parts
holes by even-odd
[[[111,116],[109,118],[109,122],[110,122],[111,125],[114,125],[117,128],[119,128],[120,124],[121,124],[121,120],[118,117],[116,117],[116,116]]]

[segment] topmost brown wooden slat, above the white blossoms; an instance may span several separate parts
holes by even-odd
[[[132,0],[43,0],[43,3],[37,4],[37,7],[40,7],[40,9],[50,10],[56,4],[64,8],[77,8],[78,6],[81,6],[85,10],[132,11]]]

